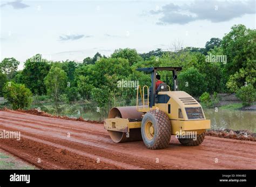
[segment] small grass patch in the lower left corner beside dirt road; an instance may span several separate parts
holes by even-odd
[[[0,153],[0,170],[1,169],[36,169],[33,166],[17,160],[15,157]]]

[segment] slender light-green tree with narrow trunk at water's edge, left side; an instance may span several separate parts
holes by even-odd
[[[58,112],[58,101],[60,95],[67,86],[67,78],[65,71],[59,67],[52,66],[48,75],[44,78],[47,94],[53,97],[55,108]]]

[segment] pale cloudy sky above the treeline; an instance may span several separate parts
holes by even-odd
[[[118,48],[204,47],[235,24],[255,29],[255,1],[1,1],[0,60],[83,61]]]

